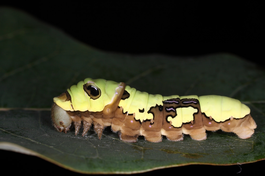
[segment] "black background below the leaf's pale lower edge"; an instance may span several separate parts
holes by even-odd
[[[16,152],[0,150],[2,156],[2,168],[12,171],[12,174],[25,175],[84,175],[61,168],[55,164],[45,161],[36,156],[24,155]],[[165,173],[189,173],[189,175],[196,175],[204,173],[203,175],[251,175],[254,170],[260,170],[265,164],[265,160],[255,163],[248,163],[242,165],[229,166],[213,166],[213,165],[187,165],[166,169],[158,169],[145,173],[138,173],[135,175],[159,175]]]

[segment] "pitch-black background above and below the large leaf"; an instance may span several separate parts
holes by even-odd
[[[226,52],[264,67],[263,6],[255,2],[58,4],[45,1],[2,5],[23,10],[73,38],[105,51],[173,56]],[[4,150],[0,150],[0,156],[1,163],[5,163],[1,168],[10,169],[12,173],[77,175],[34,156]],[[253,174],[263,169],[261,165],[264,161],[241,165],[240,174]],[[240,167],[189,165],[151,174],[163,171],[164,174],[232,175],[239,172]]]

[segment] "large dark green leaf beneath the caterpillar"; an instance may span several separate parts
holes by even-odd
[[[0,8],[0,149],[35,155],[80,173],[139,173],[189,164],[265,159],[265,72],[230,54],[177,58],[108,53],[84,45],[20,11]],[[136,143],[105,129],[98,140],[51,124],[52,98],[86,77],[125,82],[150,94],[224,95],[251,108],[251,138],[207,132],[204,141]]]

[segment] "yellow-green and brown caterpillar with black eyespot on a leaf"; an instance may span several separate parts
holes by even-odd
[[[183,134],[205,140],[206,130],[234,132],[245,139],[257,127],[250,109],[226,96],[162,96],[131,88],[125,83],[86,78],[53,99],[51,118],[59,132],[83,127],[82,136],[94,125],[101,139],[105,127],[125,142],[144,136],[150,142],[182,141]]]

